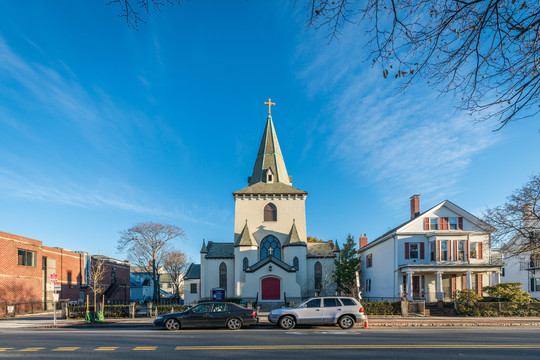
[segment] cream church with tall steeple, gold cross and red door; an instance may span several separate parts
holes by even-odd
[[[307,242],[307,195],[292,186],[269,111],[248,186],[233,193],[234,241],[203,240],[200,265],[186,273],[186,304],[210,299],[216,291],[263,302],[334,293],[339,247]]]

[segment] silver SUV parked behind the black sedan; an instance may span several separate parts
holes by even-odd
[[[268,320],[283,329],[292,329],[298,325],[333,325],[350,329],[355,322],[366,319],[364,308],[350,297],[327,296],[311,298],[297,307],[270,311]]]

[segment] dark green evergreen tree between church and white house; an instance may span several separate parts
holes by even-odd
[[[337,290],[356,297],[356,272],[360,271],[360,257],[358,256],[354,237],[351,234],[347,236],[347,240],[339,253],[339,258],[334,260],[334,264],[336,265],[334,281]]]

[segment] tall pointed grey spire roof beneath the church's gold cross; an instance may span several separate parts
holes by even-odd
[[[292,179],[287,174],[287,168],[285,167],[283,155],[281,155],[281,149],[270,113],[266,120],[261,145],[259,146],[257,159],[253,167],[253,174],[248,179],[248,185],[251,186],[259,182],[280,182],[282,184],[292,185]]]

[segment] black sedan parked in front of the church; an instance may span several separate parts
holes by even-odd
[[[187,327],[223,327],[238,330],[242,326],[258,322],[257,311],[227,302],[208,302],[193,306],[186,311],[160,315],[154,325],[167,330]]]

